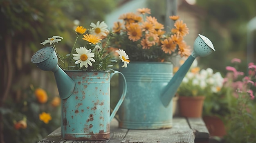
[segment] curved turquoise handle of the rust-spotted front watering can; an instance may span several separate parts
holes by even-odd
[[[126,91],[127,91],[126,79],[121,72],[115,71],[114,73],[110,73],[110,79],[113,77],[113,75],[115,75],[117,73],[119,73],[119,75],[121,75],[121,77],[123,78],[123,93],[122,93],[119,101],[117,102],[117,105],[115,106],[114,110],[112,111],[112,113],[110,115],[110,121],[112,121],[112,119],[115,117],[115,114],[117,114],[117,110],[120,108],[121,104],[123,103],[124,98],[126,96]]]

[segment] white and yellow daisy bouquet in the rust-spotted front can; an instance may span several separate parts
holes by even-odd
[[[124,63],[122,67],[127,67],[130,60],[126,52],[119,48],[119,50],[115,51],[119,56],[117,54],[112,55],[110,46],[107,46],[111,38],[111,36],[108,36],[107,24],[104,21],[101,23],[98,21],[96,24],[92,22],[90,26],[90,29],[86,29],[83,26],[76,27],[74,46],[71,52],[65,56],[57,53],[57,48],[54,44],[63,39],[61,36],[50,37],[40,44],[53,44],[54,51],[59,59],[58,65],[64,70],[110,70],[114,72],[112,67],[118,63],[118,60]],[[76,41],[80,35],[83,35],[83,40],[86,43],[77,47]],[[105,46],[103,47],[101,43],[104,43]]]

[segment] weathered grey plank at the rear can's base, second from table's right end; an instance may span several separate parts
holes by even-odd
[[[129,130],[129,143],[194,143],[193,130],[184,118],[173,119],[173,128],[162,130]]]

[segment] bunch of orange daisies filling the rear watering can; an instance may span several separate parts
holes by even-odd
[[[132,61],[166,62],[171,56],[188,57],[190,46],[183,37],[189,29],[179,16],[170,16],[175,21],[170,29],[164,31],[164,25],[150,14],[150,9],[137,9],[138,14],[125,13],[114,23],[110,40],[112,47],[122,47]]]

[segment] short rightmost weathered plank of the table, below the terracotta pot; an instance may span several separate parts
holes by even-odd
[[[209,139],[209,131],[206,128],[204,121],[201,118],[188,118],[188,123],[195,133],[196,139]]]

